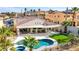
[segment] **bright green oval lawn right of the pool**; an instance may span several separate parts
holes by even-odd
[[[59,44],[65,44],[70,40],[67,34],[55,34],[51,35],[50,38],[55,39]]]

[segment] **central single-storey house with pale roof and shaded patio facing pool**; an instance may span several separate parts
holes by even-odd
[[[17,35],[36,34],[36,33],[42,34],[42,33],[49,33],[52,31],[59,32],[61,29],[60,24],[48,22],[45,19],[40,19],[40,18],[32,18],[32,20],[30,21],[21,20],[21,22],[18,21],[19,24],[17,23],[16,26]]]

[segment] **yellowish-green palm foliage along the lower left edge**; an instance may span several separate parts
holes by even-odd
[[[14,35],[14,32],[12,32],[9,28],[0,28],[0,47],[2,47],[5,51],[7,51],[9,47],[13,46],[11,40],[7,39],[7,36],[11,35]]]

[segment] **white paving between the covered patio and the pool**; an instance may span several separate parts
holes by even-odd
[[[36,33],[36,34],[22,34],[22,35],[19,35],[16,37],[15,42],[18,42],[22,39],[24,39],[24,36],[26,35],[31,35],[31,36],[34,36],[36,39],[40,39],[40,38],[48,38],[49,35],[52,35],[52,34],[58,34],[59,32],[48,32],[48,33]]]

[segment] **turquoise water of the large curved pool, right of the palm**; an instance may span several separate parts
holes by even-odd
[[[49,46],[49,45],[52,45],[53,43],[54,42],[52,40],[42,39],[42,40],[39,40],[38,45],[34,46],[34,49],[40,48],[42,46]]]

